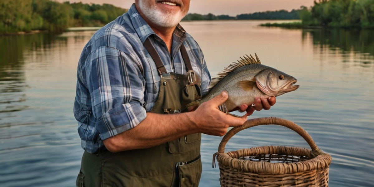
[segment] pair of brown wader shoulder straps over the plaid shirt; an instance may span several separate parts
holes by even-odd
[[[145,47],[145,49],[147,49],[148,53],[151,55],[154,63],[156,64],[159,75],[161,75],[162,73],[167,73],[165,66],[162,64],[159,54],[157,53],[156,49],[154,49],[149,38],[145,39],[143,46]],[[184,61],[184,65],[186,65],[187,72],[193,71],[190,57],[188,57],[186,47],[183,44],[181,45],[181,55]]]

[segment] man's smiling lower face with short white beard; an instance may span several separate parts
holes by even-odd
[[[138,7],[152,24],[172,28],[187,14],[190,0],[138,0]]]

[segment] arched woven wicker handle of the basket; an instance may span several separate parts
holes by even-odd
[[[236,133],[238,133],[239,131],[242,131],[244,129],[248,129],[250,127],[254,127],[254,126],[258,126],[258,125],[280,125],[280,126],[284,126],[286,128],[289,128],[289,129],[297,132],[297,134],[299,134],[301,137],[304,138],[304,140],[309,144],[310,148],[312,148],[313,156],[317,156],[317,155],[323,153],[323,151],[320,150],[317,147],[317,145],[313,141],[312,137],[310,137],[310,135],[303,128],[301,128],[299,125],[295,124],[294,122],[291,122],[291,121],[286,120],[286,119],[278,118],[278,117],[261,117],[261,118],[251,119],[251,120],[247,120],[241,126],[237,126],[237,127],[232,128],[222,138],[221,143],[218,146],[218,153],[223,154],[225,152],[226,143]]]

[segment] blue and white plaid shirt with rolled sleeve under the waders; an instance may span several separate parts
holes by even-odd
[[[185,45],[203,94],[210,74],[196,41],[178,25],[171,55],[133,4],[127,13],[98,30],[78,63],[74,116],[82,148],[104,150],[102,140],[137,126],[157,100],[160,77],[142,43],[149,37],[168,73],[186,74],[180,46]]]

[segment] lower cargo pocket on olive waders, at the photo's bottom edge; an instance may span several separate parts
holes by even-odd
[[[177,169],[177,176],[179,174],[179,186],[180,187],[197,187],[199,186],[201,171],[202,171],[202,164],[201,158],[197,159],[196,161],[178,166]]]

